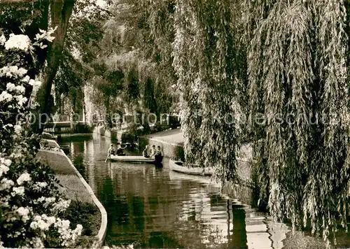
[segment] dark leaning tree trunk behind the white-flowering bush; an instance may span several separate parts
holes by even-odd
[[[50,94],[52,81],[54,80],[59,62],[62,57],[64,48],[64,38],[69,26],[69,18],[73,12],[75,0],[51,0],[50,13],[52,27],[57,27],[53,36],[55,39],[49,45],[48,57],[45,71],[43,73],[43,83],[38,91],[38,103],[40,104],[40,113],[38,113],[37,125],[34,128],[39,134],[43,132],[43,124],[47,122],[47,117],[50,115]]]

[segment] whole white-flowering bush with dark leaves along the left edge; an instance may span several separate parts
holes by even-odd
[[[0,247],[72,247],[83,229],[62,218],[70,200],[62,198],[50,168],[36,160],[39,138],[24,118],[41,84],[29,70],[53,31],[40,30],[34,43],[23,34],[0,34]]]

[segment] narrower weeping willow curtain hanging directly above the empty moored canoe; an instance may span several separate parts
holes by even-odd
[[[181,92],[186,161],[237,180],[244,85],[241,9],[236,1],[177,0],[173,66]]]

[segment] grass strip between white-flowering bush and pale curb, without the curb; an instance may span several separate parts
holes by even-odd
[[[60,192],[64,194],[66,199],[71,199],[71,205],[66,211],[65,218],[71,221],[71,225],[83,225],[83,236],[79,241],[79,246],[82,248],[91,247],[99,233],[102,217],[90,193],[62,152],[40,150],[36,157],[43,164],[50,166],[59,180]]]

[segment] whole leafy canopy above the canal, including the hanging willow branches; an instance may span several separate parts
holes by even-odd
[[[57,14],[64,37],[48,48],[44,86],[83,99],[88,85],[109,114],[178,106],[188,162],[237,183],[239,149],[251,142],[260,206],[325,240],[337,221],[346,228],[349,1],[116,0],[103,15],[92,0],[55,3],[67,4],[66,14],[54,2],[52,23]],[[33,4],[28,34],[48,25],[36,18],[48,4]],[[0,24],[22,32],[22,8],[2,13]]]

